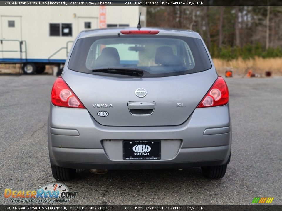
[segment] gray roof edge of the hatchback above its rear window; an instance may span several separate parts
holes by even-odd
[[[114,36],[118,35],[120,31],[130,31],[130,30],[138,30],[136,27],[133,28],[103,28],[103,29],[91,29],[80,32],[78,39],[93,37],[93,36]],[[185,36],[185,37],[193,37],[201,39],[201,36],[192,30],[184,30],[184,29],[169,29],[169,28],[148,28],[142,27],[142,30],[157,30],[159,33],[157,35],[165,35],[165,36]],[[120,33],[120,36],[132,36],[132,35],[123,35]],[[155,36],[155,35],[150,35]]]

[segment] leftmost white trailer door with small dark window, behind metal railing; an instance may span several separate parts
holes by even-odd
[[[21,38],[21,16],[1,16],[2,58],[19,59]],[[23,49],[24,50],[24,49]],[[9,51],[9,52],[6,52]]]

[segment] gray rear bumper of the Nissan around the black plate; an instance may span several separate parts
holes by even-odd
[[[229,105],[195,109],[182,125],[110,127],[86,109],[51,104],[48,147],[52,165],[75,169],[157,169],[214,166],[231,152]],[[122,140],[161,140],[161,159],[122,159]]]

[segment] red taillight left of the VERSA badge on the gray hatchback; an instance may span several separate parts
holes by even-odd
[[[85,108],[78,97],[73,93],[68,84],[61,78],[57,78],[52,91],[51,102],[55,106],[69,108]]]

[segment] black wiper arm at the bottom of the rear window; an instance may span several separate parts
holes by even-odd
[[[92,72],[105,72],[105,73],[113,73],[120,75],[132,75],[137,77],[142,77],[144,71],[138,68],[130,68],[130,67],[107,67],[100,69],[93,69]]]

